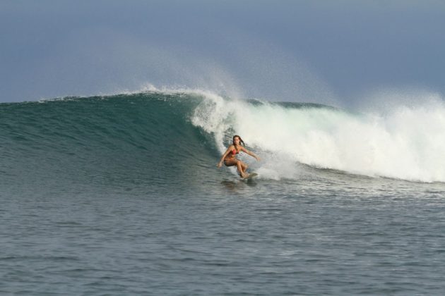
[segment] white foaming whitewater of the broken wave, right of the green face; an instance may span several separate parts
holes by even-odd
[[[245,160],[266,178],[298,178],[298,163],[349,173],[422,182],[445,181],[445,105],[391,106],[381,112],[254,106],[203,93],[192,123],[215,137],[232,135],[261,156]]]

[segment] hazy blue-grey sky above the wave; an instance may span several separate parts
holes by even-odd
[[[343,105],[443,97],[444,28],[435,0],[2,0],[0,102],[151,86]]]

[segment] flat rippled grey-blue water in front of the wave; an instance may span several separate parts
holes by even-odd
[[[0,291],[438,295],[445,289],[442,184],[325,173],[249,183],[226,175],[170,193],[149,181],[137,190],[118,187],[42,193],[23,185],[3,193]]]

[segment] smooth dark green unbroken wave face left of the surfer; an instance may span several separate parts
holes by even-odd
[[[190,167],[215,162],[189,121],[200,100],[150,93],[1,104],[0,180],[79,191],[188,182]]]

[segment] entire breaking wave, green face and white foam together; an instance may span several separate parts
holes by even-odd
[[[301,178],[315,167],[445,181],[445,107],[439,103],[350,113],[210,92],[146,92],[0,104],[0,123],[4,184],[81,188],[126,180],[134,187],[150,180],[162,187],[220,180],[227,170],[215,164],[234,134],[261,156],[260,162],[241,156],[261,178]]]

